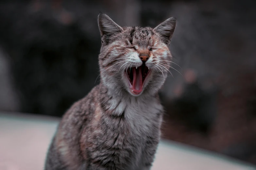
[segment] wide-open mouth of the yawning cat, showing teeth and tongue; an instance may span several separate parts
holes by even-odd
[[[144,83],[151,70],[145,64],[142,64],[138,68],[131,67],[126,72],[129,88],[132,94],[138,95],[143,91]]]

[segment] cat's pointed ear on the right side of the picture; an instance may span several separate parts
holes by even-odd
[[[175,30],[176,23],[177,23],[177,19],[175,17],[172,17],[163,21],[156,28],[154,28],[154,31],[161,36],[162,41],[166,45],[170,44],[170,40]]]

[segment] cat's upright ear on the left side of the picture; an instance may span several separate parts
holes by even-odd
[[[109,39],[112,35],[122,32],[123,29],[117,25],[109,16],[106,14],[100,13],[98,15],[98,26],[101,35],[101,42],[108,44]]]

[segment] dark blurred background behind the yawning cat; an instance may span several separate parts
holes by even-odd
[[[170,17],[162,138],[256,164],[255,0],[0,2],[0,111],[61,117],[99,83],[100,12],[121,26]]]

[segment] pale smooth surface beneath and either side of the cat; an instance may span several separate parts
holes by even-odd
[[[59,119],[0,114],[0,170],[43,170]],[[253,170],[255,166],[176,142],[162,141],[152,170]]]

